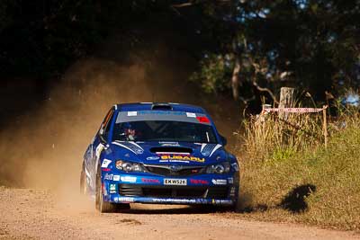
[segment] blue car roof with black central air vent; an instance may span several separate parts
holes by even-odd
[[[136,102],[136,103],[121,103],[116,104],[116,109],[119,111],[151,111],[151,110],[166,110],[166,111],[188,111],[207,114],[202,107],[174,102]],[[155,108],[154,108],[155,106]],[[161,109],[163,108],[164,109]],[[168,108],[168,109],[166,109]]]

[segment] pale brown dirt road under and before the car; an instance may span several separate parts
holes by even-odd
[[[187,206],[139,204],[114,214],[93,207],[84,198],[0,187],[0,239],[360,239],[352,232],[225,218]]]

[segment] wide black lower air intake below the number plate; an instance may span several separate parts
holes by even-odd
[[[193,186],[148,186],[139,184],[119,184],[119,193],[126,197],[163,197],[163,198],[228,198],[228,187]]]

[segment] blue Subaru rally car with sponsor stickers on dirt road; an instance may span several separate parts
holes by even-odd
[[[100,212],[130,203],[236,206],[238,161],[201,107],[117,104],[87,147],[80,189]]]

